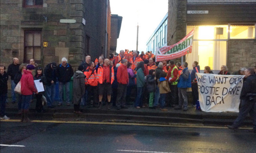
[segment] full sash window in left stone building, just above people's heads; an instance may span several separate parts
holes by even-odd
[[[25,31],[24,61],[34,59],[41,63],[41,31]]]

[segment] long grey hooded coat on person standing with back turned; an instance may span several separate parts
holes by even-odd
[[[85,75],[82,71],[76,71],[73,76],[73,103],[80,104],[81,98],[85,93]]]

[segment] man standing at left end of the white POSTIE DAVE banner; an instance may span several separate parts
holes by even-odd
[[[193,70],[191,72],[191,89],[192,89],[192,96],[193,96],[193,101],[192,101],[192,106],[196,107],[196,102],[198,100],[198,86],[197,86],[197,78],[196,78],[196,72],[200,72],[200,66],[198,65],[197,61],[194,61],[192,63]]]

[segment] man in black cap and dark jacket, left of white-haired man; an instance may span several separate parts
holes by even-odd
[[[45,67],[45,92],[46,92],[46,100],[47,107],[54,108],[53,105],[54,97],[55,97],[55,84],[56,84],[56,63],[47,64]]]

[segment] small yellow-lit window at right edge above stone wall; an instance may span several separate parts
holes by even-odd
[[[230,39],[254,39],[255,26],[254,25],[231,25]]]

